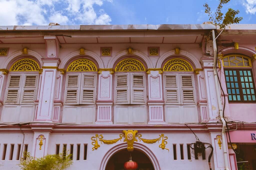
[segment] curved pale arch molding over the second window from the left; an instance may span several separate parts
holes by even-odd
[[[59,68],[64,68],[66,66],[66,64],[75,57],[81,56],[79,50],[74,51],[72,53],[69,53],[68,55],[66,55],[62,60],[61,63],[59,64]],[[99,68],[104,68],[104,64],[103,61],[101,60],[100,56],[98,56],[96,53],[92,52],[92,51],[88,51],[85,50],[85,56],[89,56],[91,58],[93,58],[99,65]]]

